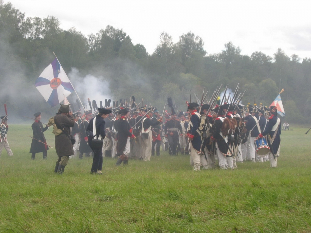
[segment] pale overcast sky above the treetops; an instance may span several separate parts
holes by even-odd
[[[4,0],[4,3],[9,1]],[[208,54],[232,41],[241,54],[255,51],[273,56],[281,48],[288,56],[311,57],[311,1],[170,1],[170,0],[11,0],[26,17],[55,16],[60,27],[74,26],[84,35],[107,25],[123,29],[133,44],[153,53],[161,32],[179,36],[191,31],[202,37]]]

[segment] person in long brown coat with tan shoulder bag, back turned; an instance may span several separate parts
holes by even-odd
[[[58,156],[54,172],[63,174],[65,166],[68,164],[69,156],[74,155],[70,140],[70,127],[75,125],[72,112],[69,111],[69,104],[60,104],[58,113],[54,116],[54,122],[58,129],[63,132],[55,135],[55,150]]]

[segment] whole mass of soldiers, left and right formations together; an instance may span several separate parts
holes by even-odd
[[[114,107],[109,106],[110,100],[105,100],[105,103],[105,108],[111,109],[112,113],[104,119],[107,136],[102,152],[105,157],[120,158],[122,155],[117,165],[127,164],[128,158],[149,161],[152,155],[160,155],[162,146],[170,155],[179,151],[190,153],[195,171],[201,166],[203,169],[215,168],[215,158],[221,169],[237,168],[236,162],[244,160],[270,161],[271,167],[277,167],[281,127],[275,124],[279,125],[280,119],[276,111],[272,112],[262,104],[244,107],[236,101],[211,107],[214,103],[188,103],[187,112],[179,112],[177,116],[172,100],[168,98],[171,111],[163,112],[166,119],[163,122],[163,114],[160,116],[156,107],[138,107],[135,97],[130,104],[122,99],[120,104],[114,103]],[[74,151],[76,156],[77,151],[80,152],[79,158],[83,158],[83,153],[90,156],[92,151],[87,144],[85,130],[91,118],[91,110],[84,113],[83,120],[79,112],[74,114],[76,123],[72,135],[76,138]],[[273,122],[275,124],[271,126]],[[200,127],[202,125],[204,127]],[[277,133],[271,134],[269,130]],[[267,139],[266,135],[270,138]],[[118,144],[121,137],[124,139]],[[256,140],[260,140],[257,146]]]

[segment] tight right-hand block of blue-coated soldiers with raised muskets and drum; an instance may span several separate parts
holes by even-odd
[[[236,162],[270,161],[277,167],[280,154],[280,118],[275,106],[248,104],[211,106],[189,103],[191,114],[188,126],[191,164],[195,171],[213,169],[215,157],[220,169],[237,168]],[[200,113],[198,112],[200,111]],[[204,117],[202,117],[204,116]],[[268,135],[266,138],[265,136]]]

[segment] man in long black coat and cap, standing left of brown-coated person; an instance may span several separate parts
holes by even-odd
[[[43,132],[49,128],[49,126],[43,127],[41,123],[41,112],[37,112],[34,114],[35,122],[31,125],[32,128],[32,134],[33,139],[30,146],[31,153],[31,159],[35,159],[36,153],[43,153],[43,159],[46,159],[47,156],[47,150],[49,147],[47,145],[44,145],[41,142],[44,142],[46,144],[46,139],[44,137]]]

